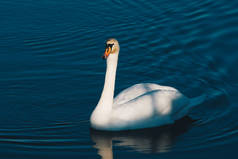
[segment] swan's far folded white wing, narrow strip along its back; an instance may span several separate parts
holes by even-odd
[[[125,104],[130,100],[133,100],[145,93],[154,91],[154,90],[173,90],[176,91],[173,87],[168,86],[160,86],[158,84],[153,83],[140,83],[135,84],[125,90],[123,90],[120,94],[118,94],[115,99],[113,105],[121,105]]]

